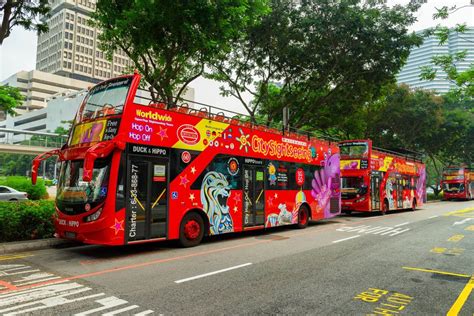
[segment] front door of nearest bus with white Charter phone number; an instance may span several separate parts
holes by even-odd
[[[167,158],[130,155],[127,163],[128,242],[166,237],[168,215]]]

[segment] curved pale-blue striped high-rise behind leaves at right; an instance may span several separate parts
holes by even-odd
[[[424,31],[420,31],[422,34]],[[436,78],[433,81],[421,80],[421,67],[432,66],[432,58],[437,55],[455,54],[462,51],[467,52],[466,58],[456,64],[459,72],[466,71],[474,63],[474,27],[468,28],[465,33],[451,32],[448,41],[444,45],[439,45],[439,40],[435,36],[430,36],[424,40],[420,47],[412,49],[406,65],[397,76],[398,83],[405,83],[412,88],[434,90],[439,94],[447,93],[455,84],[447,79],[439,67]]]

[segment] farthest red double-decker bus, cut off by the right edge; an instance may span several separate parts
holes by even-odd
[[[474,197],[474,169],[465,166],[444,169],[441,189],[444,200],[471,200]]]

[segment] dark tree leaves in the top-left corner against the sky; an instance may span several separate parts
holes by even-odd
[[[0,1],[0,45],[10,36],[15,26],[39,33],[48,31],[48,24],[40,21],[41,16],[48,15],[48,0],[1,0]]]

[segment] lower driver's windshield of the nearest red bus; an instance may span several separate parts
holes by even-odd
[[[68,215],[87,212],[107,195],[110,159],[97,159],[91,182],[82,181],[83,160],[65,161],[61,166],[56,205]]]

